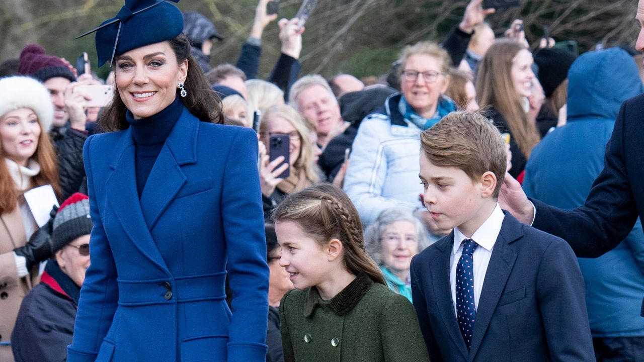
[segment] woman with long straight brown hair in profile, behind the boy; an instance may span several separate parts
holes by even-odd
[[[478,63],[478,104],[492,107],[486,113],[510,145],[512,167],[508,172],[515,178],[524,171],[532,149],[541,140],[527,113],[535,78],[532,63],[532,53],[511,39],[496,41]]]

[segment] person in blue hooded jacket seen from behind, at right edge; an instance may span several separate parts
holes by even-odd
[[[604,167],[620,104],[644,91],[638,67],[620,48],[585,53],[568,73],[567,124],[532,152],[523,187],[549,205],[583,205]],[[598,361],[643,361],[644,235],[641,222],[600,258],[579,258]]]

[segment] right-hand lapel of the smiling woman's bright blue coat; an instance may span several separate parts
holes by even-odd
[[[149,230],[184,187],[187,178],[181,166],[196,162],[199,122],[184,109],[156,158],[141,194],[143,217]]]

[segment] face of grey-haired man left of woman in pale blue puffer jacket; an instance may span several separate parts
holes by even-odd
[[[315,122],[319,137],[326,137],[331,129],[342,122],[336,97],[323,86],[316,84],[301,91],[296,102],[299,112]]]

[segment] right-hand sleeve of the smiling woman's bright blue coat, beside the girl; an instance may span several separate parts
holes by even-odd
[[[269,314],[257,135],[242,128],[227,155],[222,191],[223,231],[232,289],[228,361],[264,361]]]

